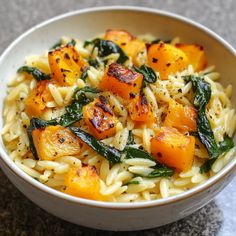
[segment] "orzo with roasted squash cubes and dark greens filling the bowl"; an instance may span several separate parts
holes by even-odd
[[[64,193],[136,202],[203,183],[234,156],[231,85],[204,48],[111,29],[63,37],[9,83],[3,140],[27,174]]]

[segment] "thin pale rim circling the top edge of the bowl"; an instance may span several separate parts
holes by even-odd
[[[60,14],[58,16],[52,17],[48,20],[43,21],[42,23],[37,24],[36,26],[33,26],[23,34],[21,34],[19,37],[17,37],[2,53],[0,57],[0,65],[2,61],[4,60],[5,56],[10,52],[10,50],[22,39],[27,37],[30,33],[34,32],[38,28],[42,28],[50,23],[53,23],[57,20],[62,20],[67,17],[71,17],[74,15],[80,15],[80,14],[86,14],[86,13],[95,13],[95,12],[107,12],[107,11],[133,11],[133,12],[140,12],[140,13],[150,13],[150,14],[157,14],[164,17],[168,17],[180,22],[183,22],[185,24],[188,24],[194,28],[197,28],[207,35],[209,35],[214,40],[218,41],[220,44],[222,44],[231,54],[233,54],[236,57],[236,50],[227,43],[223,38],[221,38],[219,35],[217,35],[212,30],[208,29],[207,27],[191,20],[186,17],[183,17],[181,15],[171,13],[168,11],[163,11],[159,9],[151,9],[147,7],[136,7],[136,6],[102,6],[102,7],[92,7],[92,8],[85,8],[81,10],[75,10],[71,12],[67,12],[64,14]],[[157,206],[163,206],[171,203],[176,203],[179,201],[182,201],[186,198],[192,197],[193,195],[196,195],[207,188],[213,186],[220,180],[222,180],[227,174],[232,172],[233,170],[236,170],[236,158],[232,159],[220,172],[218,172],[216,175],[208,179],[203,184],[200,184],[196,187],[193,187],[190,190],[187,190],[183,193],[180,193],[175,196],[163,198],[163,199],[157,199],[152,201],[145,201],[145,202],[133,202],[133,203],[118,203],[118,202],[100,202],[95,200],[89,200],[84,198],[78,198],[74,197],[65,193],[62,193],[58,190],[55,190],[51,187],[48,187],[44,185],[43,183],[40,183],[39,181],[35,180],[28,174],[26,174],[23,170],[21,170],[9,157],[6,150],[4,150],[4,144],[2,141],[1,136],[1,146],[0,146],[0,159],[3,161],[3,165],[5,164],[5,167],[13,173],[15,176],[21,178],[25,183],[30,184],[32,187],[36,188],[37,190],[40,190],[44,192],[45,194],[58,197],[62,200],[67,200],[70,202],[77,203],[79,205],[84,206],[90,206],[90,207],[98,207],[98,208],[109,208],[109,209],[116,209],[116,210],[124,210],[124,209],[140,209],[140,208],[149,208],[149,207],[157,207]],[[1,164],[1,162],[0,162]]]

